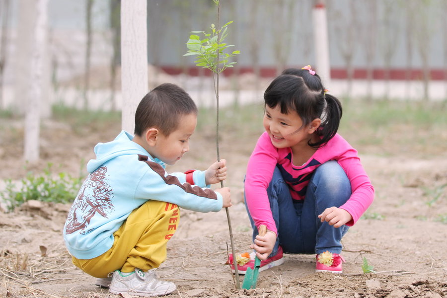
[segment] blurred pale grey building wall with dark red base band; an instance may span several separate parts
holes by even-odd
[[[85,73],[87,1],[93,3],[90,71],[106,76],[111,64],[119,64],[119,48],[113,47],[119,0],[49,0],[53,82]],[[14,52],[21,36],[19,1],[9,2],[8,28],[1,31],[8,35],[6,84],[17,75]],[[234,21],[226,42],[241,52],[225,74],[274,76],[286,67],[314,64],[313,1],[221,0],[221,7],[221,24]],[[446,0],[327,0],[326,8],[332,78],[419,80],[426,71],[431,80],[447,80]],[[217,23],[212,0],[148,0],[149,64],[167,74],[203,74],[182,55],[189,32],[208,30],[212,23]]]

